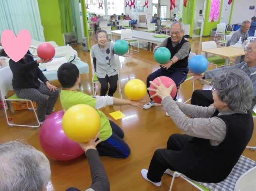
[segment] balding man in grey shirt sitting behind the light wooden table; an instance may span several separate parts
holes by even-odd
[[[241,24],[241,28],[238,29],[231,37],[230,42],[228,42],[227,46],[235,45],[239,38],[242,37],[242,42],[247,40],[249,37],[248,31],[250,29],[250,21],[245,20]]]

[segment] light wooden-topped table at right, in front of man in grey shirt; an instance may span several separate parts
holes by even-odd
[[[230,58],[237,57],[236,64],[238,64],[241,60],[241,56],[245,55],[245,51],[243,48],[237,48],[237,47],[231,47],[231,46],[202,50],[202,52],[205,53],[206,58],[208,53],[226,58],[225,67],[228,66],[228,60]]]

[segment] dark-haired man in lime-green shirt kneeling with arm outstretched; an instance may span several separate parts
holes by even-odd
[[[141,102],[119,99],[111,96],[90,96],[76,89],[80,84],[79,70],[75,64],[64,63],[58,71],[58,80],[63,89],[61,89],[61,105],[64,112],[76,104],[87,104],[94,107],[101,120],[99,139],[102,139],[96,148],[100,156],[113,156],[117,158],[127,158],[131,152],[130,147],[122,138],[124,131],[109,119],[102,111],[98,110],[109,105],[131,105],[142,109]]]

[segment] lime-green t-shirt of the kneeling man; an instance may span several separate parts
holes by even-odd
[[[72,91],[72,90],[63,90],[61,89],[60,101],[63,107],[64,112],[76,104],[87,104],[95,108],[96,97],[89,96],[83,93],[80,90]],[[112,135],[112,128],[109,123],[108,117],[100,110],[96,109],[100,114],[100,135],[98,138],[102,140],[108,139]]]

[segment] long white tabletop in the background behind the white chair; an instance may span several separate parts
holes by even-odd
[[[117,36],[121,36],[121,30],[115,30],[115,31],[111,31],[112,35],[117,35]],[[147,42],[152,42],[155,44],[161,44],[165,38],[156,38],[153,35],[158,35],[156,33],[148,33],[148,32],[143,32],[143,31],[134,31],[132,30],[132,37],[133,38],[138,38],[139,40],[145,40]]]

